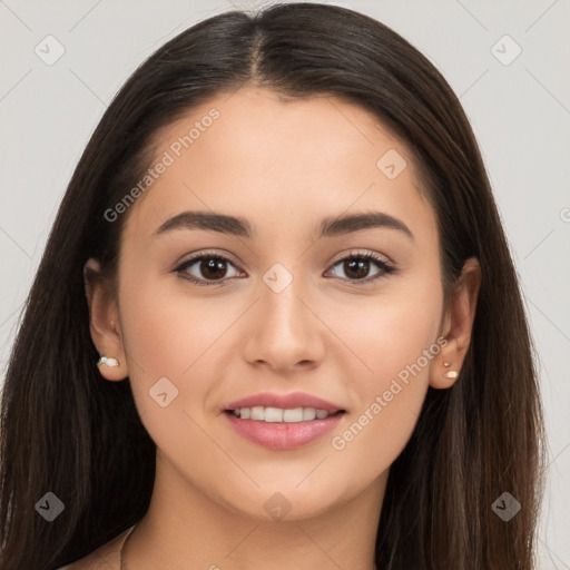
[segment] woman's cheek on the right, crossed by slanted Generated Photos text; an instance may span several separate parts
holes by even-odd
[[[417,422],[430,368],[440,357],[440,293],[436,274],[411,286],[402,283],[393,294],[362,307],[353,304],[351,318],[343,321],[343,338],[366,367],[351,379],[358,405],[332,446],[353,458],[363,478],[390,466]]]

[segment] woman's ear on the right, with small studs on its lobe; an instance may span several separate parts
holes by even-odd
[[[480,286],[479,261],[476,257],[470,257],[463,264],[455,292],[445,311],[441,334],[448,343],[442,346],[440,357],[430,370],[430,386],[432,387],[451,387],[461,373],[471,343]]]

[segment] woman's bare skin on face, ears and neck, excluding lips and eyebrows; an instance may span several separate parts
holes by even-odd
[[[160,132],[157,159],[212,108],[219,118],[124,214],[117,298],[88,287],[94,343],[119,361],[101,374],[130,377],[157,444],[151,504],[126,544],[125,568],[371,570],[390,465],[428,386],[448,389],[455,380],[444,373],[461,371],[479,264],[465,263],[445,307],[435,214],[412,157],[360,107],[284,101],[253,87],[220,94]],[[394,179],[376,166],[389,149],[407,163]],[[257,232],[155,234],[187,210],[239,216]],[[373,227],[315,240],[322,218],[370,212],[397,218],[413,237]],[[342,261],[368,252],[397,272],[372,259],[355,278]],[[199,261],[175,272],[200,253],[229,259],[223,278],[208,278]],[[293,279],[278,293],[263,278],[275,264]],[[371,412],[439,337],[436,355]],[[165,407],[149,396],[161,377],[178,390]],[[258,392],[306,392],[346,413],[317,441],[268,450],[234,431],[224,412]],[[345,439],[366,411],[362,431]],[[291,508],[284,518],[264,507],[272,497]]]

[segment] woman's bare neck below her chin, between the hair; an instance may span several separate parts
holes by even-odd
[[[259,519],[206,497],[158,453],[150,507],[124,548],[126,568],[374,570],[386,479],[313,515]]]

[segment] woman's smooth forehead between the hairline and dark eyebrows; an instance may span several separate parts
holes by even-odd
[[[153,164],[167,166],[131,207],[129,233],[148,235],[185,209],[292,230],[382,208],[415,225],[423,217],[434,229],[406,146],[368,111],[336,98],[283,99],[257,88],[219,94],[165,127],[155,149]]]

